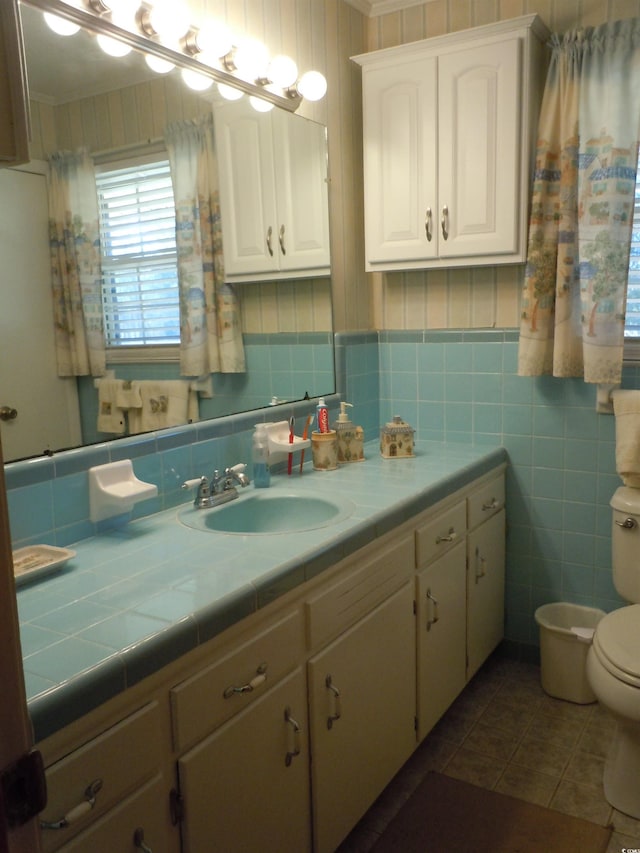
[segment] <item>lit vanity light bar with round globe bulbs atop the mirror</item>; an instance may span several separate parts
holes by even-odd
[[[255,39],[234,44],[225,24],[206,20],[193,26],[183,0],[29,0],[29,4],[66,22],[69,32],[95,31],[98,18],[97,41],[111,56],[135,49],[158,73],[180,65],[190,72],[183,78],[192,87],[195,83],[202,91],[215,82],[224,97],[231,90],[236,97],[246,94],[256,99],[258,108],[264,109],[266,103],[295,112],[303,97],[319,100],[327,91],[327,81],[318,71],[298,78],[292,59],[270,60],[267,48]]]

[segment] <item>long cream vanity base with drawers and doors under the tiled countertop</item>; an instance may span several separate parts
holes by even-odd
[[[502,637],[503,507],[500,469],[39,744],[45,853],[335,850]]]

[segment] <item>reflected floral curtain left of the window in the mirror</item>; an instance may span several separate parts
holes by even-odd
[[[105,372],[98,201],[86,151],[49,158],[49,249],[59,376]]]

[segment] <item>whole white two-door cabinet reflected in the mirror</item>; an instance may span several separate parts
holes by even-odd
[[[325,128],[246,99],[214,121],[227,280],[329,275]]]

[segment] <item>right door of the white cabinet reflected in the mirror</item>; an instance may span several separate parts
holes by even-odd
[[[280,269],[329,275],[326,129],[282,110],[272,118]]]

